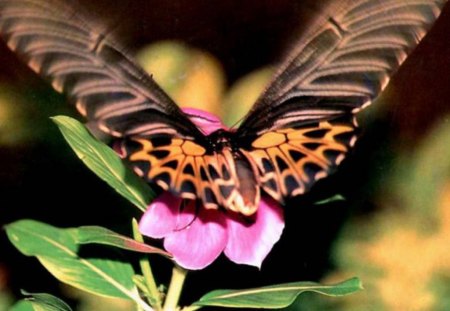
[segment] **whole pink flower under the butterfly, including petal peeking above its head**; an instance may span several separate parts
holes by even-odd
[[[226,129],[214,115],[197,109],[183,111],[206,135]],[[196,204],[164,192],[139,223],[143,235],[163,238],[165,249],[186,269],[202,269],[222,252],[235,263],[261,267],[284,228],[283,209],[268,196],[262,196],[251,217]]]

